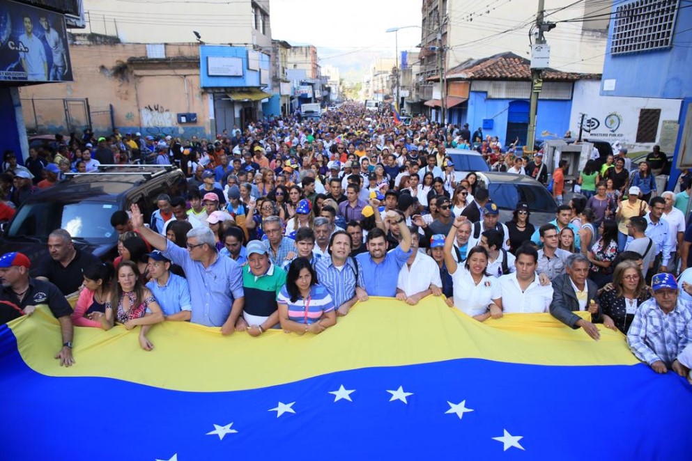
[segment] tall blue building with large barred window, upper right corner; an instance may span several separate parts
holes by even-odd
[[[682,0],[613,6],[601,95],[682,99],[668,188],[692,168],[692,8]],[[676,167],[679,167],[676,168]]]

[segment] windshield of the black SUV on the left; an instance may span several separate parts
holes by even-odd
[[[33,236],[47,240],[52,231],[63,228],[72,237],[91,243],[115,242],[118,235],[110,221],[116,209],[114,203],[108,202],[24,203],[12,221],[8,237]]]

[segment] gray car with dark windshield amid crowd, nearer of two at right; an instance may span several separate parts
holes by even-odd
[[[519,202],[529,205],[530,222],[536,227],[555,219],[558,203],[540,182],[527,175],[513,173],[478,173],[479,181],[488,188],[491,200],[500,208],[500,222],[512,219]]]

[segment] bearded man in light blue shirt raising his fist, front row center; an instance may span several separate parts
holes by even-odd
[[[389,221],[390,226],[399,226],[399,246],[387,253],[384,231],[374,228],[367,236],[368,252],[360,253],[355,259],[362,267],[363,288],[368,296],[394,297],[397,295],[399,270],[411,254],[411,233],[406,226],[406,219],[399,212],[387,211],[383,219]]]

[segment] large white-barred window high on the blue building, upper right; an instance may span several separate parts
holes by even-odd
[[[615,8],[610,54],[670,47],[679,3],[680,0],[636,0]]]

